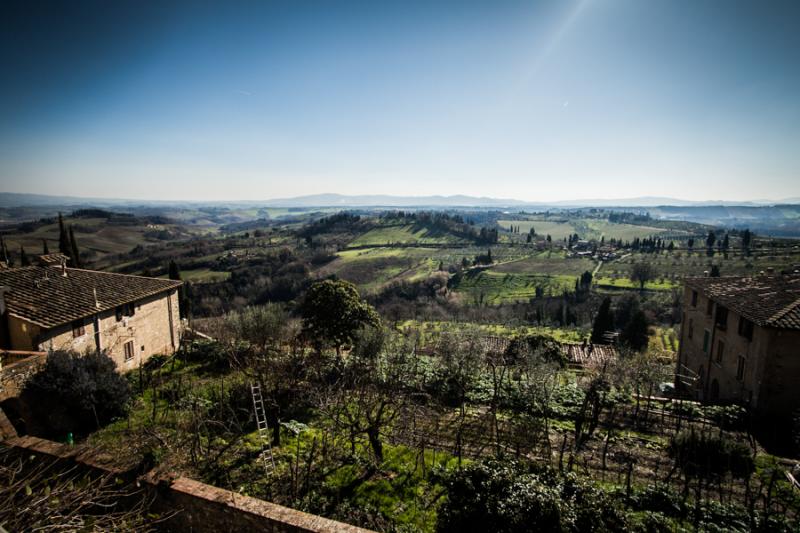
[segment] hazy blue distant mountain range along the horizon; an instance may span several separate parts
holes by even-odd
[[[784,200],[754,200],[737,202],[729,200],[691,201],[677,198],[642,196],[638,198],[562,200],[556,202],[526,202],[505,198],[487,198],[465,195],[453,196],[392,196],[312,194],[293,198],[243,201],[174,201],[131,200],[123,198],[87,198],[77,196],[50,196],[45,194],[19,194],[0,192],[0,207],[23,206],[148,206],[148,205],[258,205],[264,207],[480,207],[480,208],[566,208],[566,207],[656,207],[656,206],[765,206],[800,204],[800,198]]]

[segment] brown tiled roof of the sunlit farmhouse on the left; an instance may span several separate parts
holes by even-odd
[[[5,294],[9,315],[52,328],[181,285],[180,281],[79,268],[65,271],[66,276],[61,268],[53,267],[0,270],[0,285],[11,289]]]

